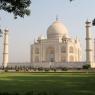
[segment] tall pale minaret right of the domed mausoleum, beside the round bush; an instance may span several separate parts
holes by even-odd
[[[86,21],[86,62],[92,66],[93,64],[93,46],[91,22]]]

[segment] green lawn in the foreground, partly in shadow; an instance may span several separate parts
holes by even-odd
[[[27,92],[31,93],[27,95],[95,95],[95,74],[0,73],[0,92],[17,92],[20,95]]]

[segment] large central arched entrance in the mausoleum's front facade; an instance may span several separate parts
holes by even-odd
[[[55,62],[55,49],[53,47],[47,48],[47,62]]]

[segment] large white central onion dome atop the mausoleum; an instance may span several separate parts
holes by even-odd
[[[68,36],[68,31],[66,27],[60,21],[55,21],[47,30],[47,38],[59,38],[63,36]]]

